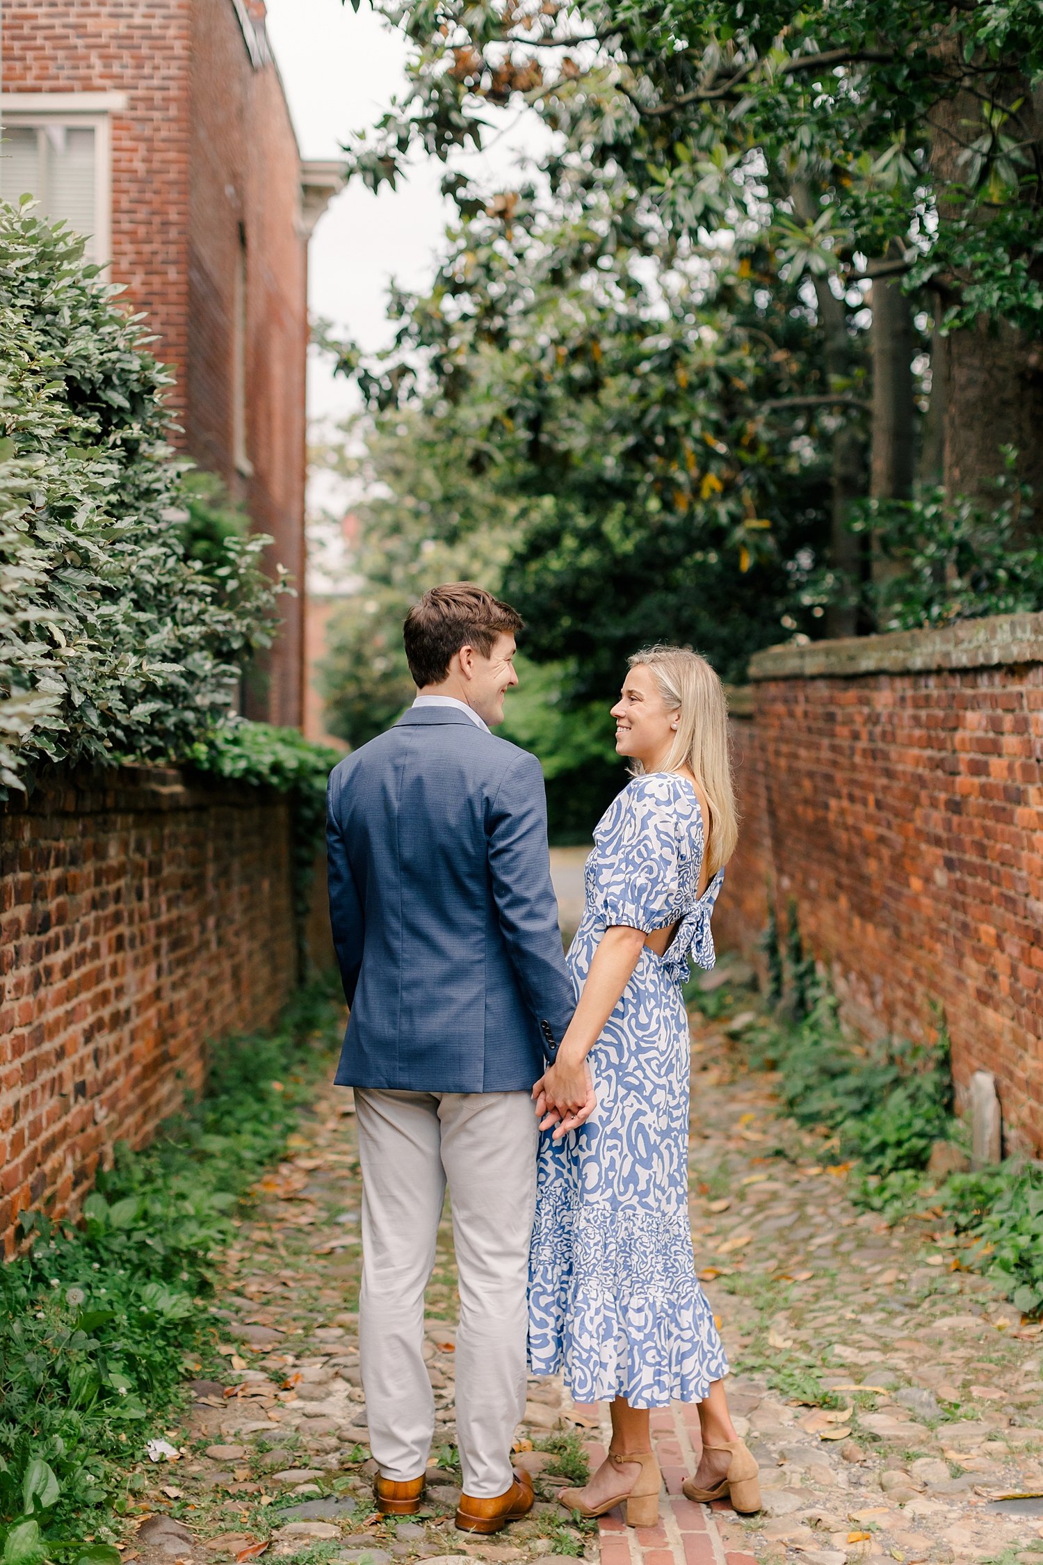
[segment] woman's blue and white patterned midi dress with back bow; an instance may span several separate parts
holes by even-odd
[[[704,823],[693,786],[635,778],[594,831],[586,905],[568,962],[582,991],[610,925],[677,923],[666,955],[644,947],[590,1053],[597,1108],[539,1139],[529,1265],[529,1362],[563,1371],[577,1402],[699,1402],[727,1374],[696,1279],[688,1222],[688,958],[713,967],[710,914],[724,870],[697,895]]]

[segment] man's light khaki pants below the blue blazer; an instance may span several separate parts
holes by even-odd
[[[419,1477],[435,1432],[424,1365],[424,1290],[449,1182],[460,1274],[457,1440],[477,1499],[513,1482],[525,1408],[529,1239],[536,1116],[525,1092],[355,1089],[363,1166],[360,1352],[382,1474]]]

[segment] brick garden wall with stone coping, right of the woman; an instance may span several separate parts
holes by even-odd
[[[743,842],[715,931],[763,962],[768,898],[865,1033],[952,1036],[1043,1149],[1043,615],[758,654],[733,720]]]

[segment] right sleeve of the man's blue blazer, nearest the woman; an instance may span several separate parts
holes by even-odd
[[[550,884],[547,795],[535,756],[507,768],[488,817],[489,875],[500,933],[543,1052],[554,1060],[575,1009]]]

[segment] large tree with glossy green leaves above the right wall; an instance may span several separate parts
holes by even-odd
[[[1043,603],[1038,5],[377,8],[411,86],[355,172],[446,160],[460,225],[342,363],[525,499],[547,656],[658,624],[738,673],[780,626]],[[538,199],[453,171],[505,105],[554,131]]]

